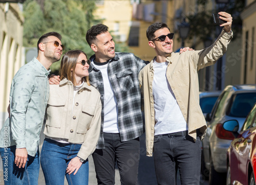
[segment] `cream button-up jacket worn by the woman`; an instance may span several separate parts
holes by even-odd
[[[77,156],[86,160],[94,152],[99,139],[100,94],[84,83],[76,93],[74,103],[73,97],[73,84],[66,78],[59,85],[50,85],[44,134],[67,139],[70,143],[83,143]]]

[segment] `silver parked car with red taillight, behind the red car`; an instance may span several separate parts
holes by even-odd
[[[202,140],[202,165],[206,169],[202,175],[209,178],[209,185],[226,181],[226,152],[234,136],[223,129],[222,124],[236,119],[240,130],[255,102],[256,85],[229,85],[220,94],[211,113],[206,116],[208,128]]]

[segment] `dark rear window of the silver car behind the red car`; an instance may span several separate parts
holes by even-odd
[[[254,103],[256,102],[256,93],[235,94],[231,98],[228,116],[246,118]]]

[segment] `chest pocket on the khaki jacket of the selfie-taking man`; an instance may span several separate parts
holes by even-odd
[[[189,70],[188,66],[184,66],[181,70],[174,72],[175,80],[180,87],[188,86],[189,84]]]

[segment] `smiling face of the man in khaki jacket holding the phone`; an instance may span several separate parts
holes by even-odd
[[[167,35],[170,31],[167,28],[159,29],[157,30],[154,35],[155,38],[160,37],[161,35]],[[173,52],[173,39],[169,39],[168,37],[165,37],[164,41],[161,41],[160,39],[156,39],[154,41],[148,41],[148,44],[155,48],[155,51],[158,56],[161,57],[167,57]]]

